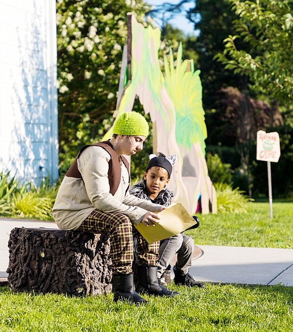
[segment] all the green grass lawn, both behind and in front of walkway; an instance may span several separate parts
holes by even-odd
[[[248,203],[248,213],[199,215],[189,231],[196,244],[293,247],[293,203]],[[144,296],[135,307],[114,303],[113,295],[82,298],[14,294],[0,287],[0,331],[284,331],[293,326],[293,287],[207,284],[187,288],[172,283],[175,298]]]

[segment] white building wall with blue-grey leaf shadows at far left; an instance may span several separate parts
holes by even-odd
[[[0,0],[0,172],[58,178],[55,0]]]

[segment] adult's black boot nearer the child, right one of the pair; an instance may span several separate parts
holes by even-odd
[[[137,277],[138,283],[135,291],[137,293],[147,293],[155,296],[168,296],[172,297],[179,295],[177,292],[168,291],[167,288],[162,286],[158,281],[158,268],[157,266],[138,266]]]

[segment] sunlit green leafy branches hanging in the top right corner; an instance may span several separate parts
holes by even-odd
[[[237,15],[233,21],[235,33],[224,39],[225,49],[218,59],[225,69],[247,75],[251,88],[291,105],[293,40],[291,0],[229,0]],[[247,45],[237,46],[240,39]]]

